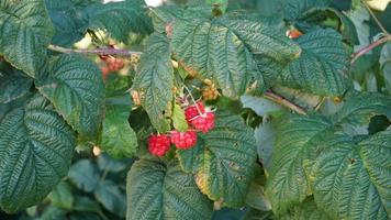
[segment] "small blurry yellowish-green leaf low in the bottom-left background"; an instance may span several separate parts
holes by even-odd
[[[48,195],[51,204],[55,207],[71,210],[74,207],[74,195],[67,182],[60,182],[56,188]]]

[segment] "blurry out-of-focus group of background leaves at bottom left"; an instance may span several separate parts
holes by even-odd
[[[126,215],[125,179],[133,160],[113,160],[107,154],[78,160],[40,206],[19,219],[78,220],[123,219]]]

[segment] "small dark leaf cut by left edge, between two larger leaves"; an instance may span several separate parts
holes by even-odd
[[[0,73],[0,103],[9,103],[26,95],[33,79],[14,68]]]

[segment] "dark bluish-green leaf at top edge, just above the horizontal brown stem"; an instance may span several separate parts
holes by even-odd
[[[89,29],[105,30],[122,42],[126,42],[130,33],[149,34],[153,31],[143,0],[97,3],[85,11],[89,18]]]

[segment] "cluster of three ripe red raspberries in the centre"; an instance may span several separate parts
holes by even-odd
[[[197,144],[197,131],[208,133],[214,128],[214,113],[205,109],[202,102],[197,102],[185,109],[189,130],[186,132],[171,131],[169,134],[150,135],[148,150],[152,155],[164,156],[171,143],[177,148],[188,150]]]

